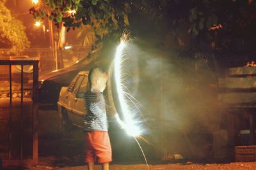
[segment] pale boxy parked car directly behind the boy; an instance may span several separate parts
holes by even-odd
[[[65,130],[68,130],[72,124],[77,127],[83,126],[84,97],[88,82],[88,71],[80,71],[70,82],[68,87],[62,87],[60,90],[58,113],[62,117]]]

